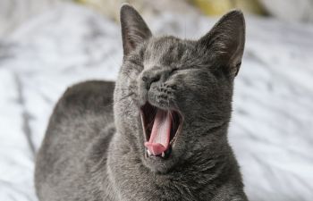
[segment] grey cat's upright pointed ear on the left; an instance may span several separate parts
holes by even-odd
[[[123,39],[123,53],[129,54],[143,41],[152,36],[145,21],[131,5],[123,4],[121,7],[121,26]]]

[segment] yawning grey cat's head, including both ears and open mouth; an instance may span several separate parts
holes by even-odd
[[[154,37],[128,4],[121,24],[123,66],[114,91],[120,143],[154,172],[226,143],[245,42],[242,13],[226,13],[199,40]]]

